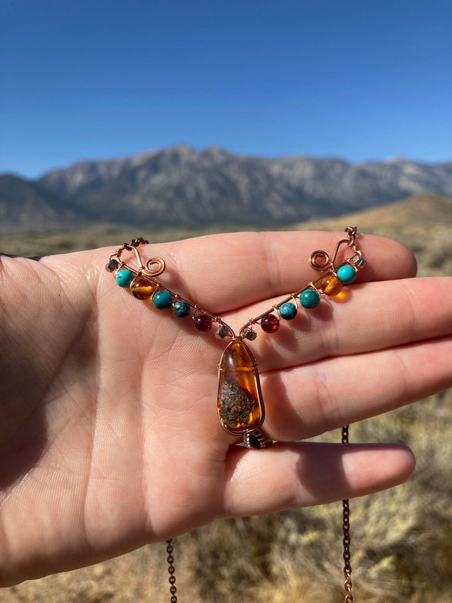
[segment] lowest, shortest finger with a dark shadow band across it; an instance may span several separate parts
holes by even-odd
[[[292,443],[265,450],[233,446],[227,463],[225,516],[363,496],[401,484],[415,469],[413,453],[401,444]]]

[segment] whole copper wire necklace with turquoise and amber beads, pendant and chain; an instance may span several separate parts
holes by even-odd
[[[215,314],[197,304],[184,299],[179,294],[169,291],[155,277],[165,270],[165,260],[161,257],[151,257],[143,264],[139,253],[139,246],[146,245],[142,237],[134,239],[119,247],[105,266],[106,270],[115,273],[116,283],[124,288],[130,288],[134,297],[139,300],[152,300],[155,308],[168,310],[177,318],[187,318],[192,315],[195,329],[200,333],[209,332],[213,324],[218,328],[215,336],[218,339],[230,338],[221,359],[218,363],[218,399],[217,412],[220,425],[228,434],[243,438],[243,445],[250,449],[264,449],[272,444],[266,440],[260,428],[265,420],[265,406],[260,388],[259,370],[256,358],[254,358],[250,347],[245,343],[254,341],[257,332],[253,329],[255,324],[265,333],[275,333],[280,320],[293,320],[297,316],[298,304],[307,311],[319,305],[322,295],[328,297],[341,292],[343,285],[352,283],[357,271],[366,264],[359,247],[355,244],[356,227],[345,229],[347,239],[342,239],[336,245],[333,257],[330,259],[325,251],[313,251],[309,257],[310,266],[322,273],[318,279],[307,283],[303,289],[291,293],[279,303],[273,305],[268,311],[263,312],[256,318],[244,324],[237,335],[233,329]],[[342,244],[346,244],[353,254],[338,267],[334,267],[337,253]],[[135,270],[121,259],[124,251],[134,251],[139,262],[139,268]],[[322,260],[319,263],[319,260]],[[153,268],[157,264],[156,268]],[[318,286],[316,286],[318,285]],[[342,443],[348,444],[348,425],[342,428]],[[351,566],[350,566],[350,507],[348,499],[342,500],[342,531],[344,538],[342,545],[344,552],[344,603],[353,603],[351,594]],[[168,553],[168,572],[171,593],[171,603],[177,603],[174,576],[174,557],[172,538],[166,540],[166,552]]]

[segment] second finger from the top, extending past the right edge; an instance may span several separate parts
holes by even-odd
[[[240,311],[234,322],[245,324],[271,303],[269,300]],[[322,300],[313,310],[300,308],[291,321],[281,320],[272,335],[263,333],[259,326],[256,330],[259,336],[253,351],[261,371],[449,335],[452,278],[351,285],[343,298]]]

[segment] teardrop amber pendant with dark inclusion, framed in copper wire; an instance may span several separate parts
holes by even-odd
[[[225,431],[245,435],[265,418],[256,360],[243,341],[231,341],[218,365],[218,418]]]

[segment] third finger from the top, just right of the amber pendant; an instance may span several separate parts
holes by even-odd
[[[265,435],[304,440],[452,387],[452,337],[263,375]]]

